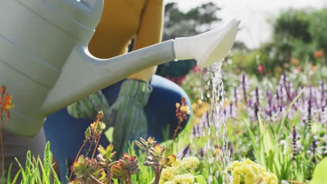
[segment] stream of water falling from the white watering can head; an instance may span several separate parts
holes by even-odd
[[[219,176],[223,178],[224,183],[231,183],[226,174],[226,166],[230,160],[228,149],[228,138],[226,128],[226,112],[224,112],[224,102],[226,93],[224,91],[224,82],[222,79],[223,71],[221,70],[223,62],[218,62],[208,67],[208,74],[211,77],[212,93],[211,108],[208,113],[208,131],[205,132],[207,142],[205,144],[206,158],[210,164],[208,183],[213,183]],[[202,77],[202,75],[201,75]],[[202,84],[202,78],[201,78]],[[202,100],[203,91],[201,91]],[[208,95],[210,98],[210,94]]]

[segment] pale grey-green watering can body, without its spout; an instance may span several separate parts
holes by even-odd
[[[102,8],[103,1],[0,1],[0,83],[15,104],[6,130],[40,130],[46,96],[75,45],[92,38]]]

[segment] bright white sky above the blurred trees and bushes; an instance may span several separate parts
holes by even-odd
[[[233,17],[242,22],[237,40],[250,49],[259,47],[260,43],[269,40],[272,29],[268,20],[273,19],[286,8],[324,8],[327,0],[165,0],[165,3],[176,2],[183,11],[190,10],[202,3],[216,3],[221,10],[217,12],[223,24]],[[215,25],[215,26],[219,26]]]

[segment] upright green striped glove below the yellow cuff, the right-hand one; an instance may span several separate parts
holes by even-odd
[[[114,122],[113,142],[119,158],[127,151],[129,141],[147,136],[147,118],[144,107],[152,92],[144,81],[126,80],[119,91],[116,102],[110,107]]]

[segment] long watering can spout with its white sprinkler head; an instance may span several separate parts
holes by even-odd
[[[111,59],[98,59],[84,44],[77,45],[45,98],[41,112],[48,115],[126,76],[175,59],[196,59],[201,68],[222,61],[234,43],[239,24],[239,20],[232,20],[220,29],[168,40]]]

